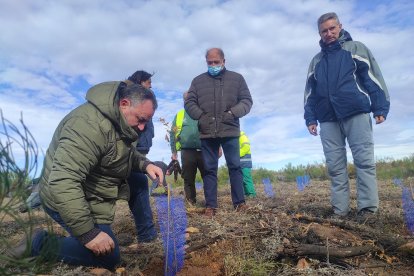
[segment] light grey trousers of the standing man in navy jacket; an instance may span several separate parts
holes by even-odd
[[[332,181],[331,204],[334,212],[347,215],[350,210],[345,139],[356,169],[357,211],[366,208],[376,212],[379,199],[370,115],[358,114],[338,122],[321,123],[320,129],[326,165]]]

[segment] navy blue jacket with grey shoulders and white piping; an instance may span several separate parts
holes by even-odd
[[[370,50],[342,30],[311,61],[305,88],[306,125],[373,112],[387,117],[387,86]]]

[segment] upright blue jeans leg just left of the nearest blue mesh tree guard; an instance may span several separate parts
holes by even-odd
[[[138,241],[148,242],[157,237],[149,199],[148,178],[143,173],[132,173],[128,178],[128,201],[137,229]]]

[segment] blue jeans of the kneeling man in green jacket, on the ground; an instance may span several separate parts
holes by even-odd
[[[113,270],[121,261],[119,254],[119,245],[108,224],[95,224],[95,227],[107,233],[115,243],[115,249],[111,254],[106,256],[96,256],[87,249],[80,241],[72,236],[70,229],[66,226],[58,212],[55,212],[46,206],[43,206],[45,212],[52,217],[57,223],[65,228],[70,236],[63,237],[42,231],[33,237],[32,256],[43,256],[46,260],[58,260],[70,265],[82,265],[93,267],[104,267]]]

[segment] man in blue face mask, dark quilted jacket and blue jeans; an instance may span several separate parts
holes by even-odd
[[[223,149],[230,176],[231,198],[236,211],[247,208],[240,168],[240,122],[249,113],[253,100],[243,76],[226,69],[223,50],[206,52],[208,71],[191,82],[185,110],[198,120],[205,175],[205,215],[212,218],[217,205],[219,148]]]

